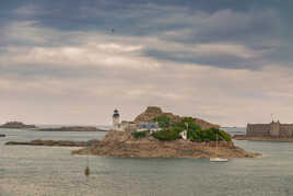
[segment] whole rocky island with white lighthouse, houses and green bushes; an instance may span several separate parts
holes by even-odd
[[[256,158],[260,153],[236,147],[231,136],[214,125],[194,117],[164,113],[149,106],[133,122],[119,122],[114,111],[113,129],[90,148],[73,154],[121,158]]]

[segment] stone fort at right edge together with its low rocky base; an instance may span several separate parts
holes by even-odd
[[[270,124],[247,124],[246,135],[235,135],[233,139],[293,141],[293,124],[281,124],[279,120]]]

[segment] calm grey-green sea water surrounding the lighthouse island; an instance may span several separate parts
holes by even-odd
[[[224,128],[244,134],[245,128]],[[261,158],[137,159],[72,155],[79,148],[5,146],[33,139],[85,141],[106,132],[0,129],[0,196],[288,196],[293,142],[234,141]],[[86,165],[90,176],[84,175]]]

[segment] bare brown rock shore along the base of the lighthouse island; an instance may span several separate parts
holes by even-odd
[[[87,148],[72,151],[73,154],[87,154]],[[232,141],[194,142],[189,140],[160,141],[153,137],[134,139],[131,132],[110,130],[98,142],[92,143],[93,155],[120,158],[257,158],[260,153],[247,152]]]

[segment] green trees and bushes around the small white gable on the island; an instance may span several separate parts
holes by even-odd
[[[157,122],[159,126],[164,129],[153,134],[153,137],[160,140],[179,139],[181,138],[179,132],[188,129],[187,138],[192,141],[215,141],[216,134],[218,140],[231,141],[231,136],[224,130],[216,128],[201,130],[201,127],[194,123],[192,117],[184,117],[179,123],[171,123],[171,118],[167,116],[157,116],[153,120]]]

